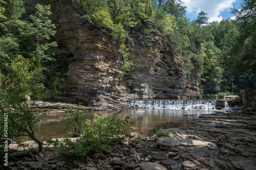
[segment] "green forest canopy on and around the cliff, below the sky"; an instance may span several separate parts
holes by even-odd
[[[241,8],[232,9],[235,20],[210,23],[204,11],[190,21],[181,0],[77,0],[77,4],[84,12],[83,17],[95,27],[118,38],[124,58],[121,80],[134,68],[126,46],[127,42],[133,43],[129,30],[140,28],[143,20],[152,20],[162,34],[165,48],[182,57],[187,75],[196,65],[202,67],[202,94],[237,93],[256,86],[255,0],[243,0]],[[53,54],[46,51],[56,43],[42,41],[55,34],[54,25],[38,18],[39,15],[32,16],[31,22],[22,21],[24,13],[24,1],[0,0],[2,72],[17,55],[38,65],[54,60]],[[45,30],[40,32],[38,28],[42,25]],[[146,29],[144,34],[151,36],[152,31]]]

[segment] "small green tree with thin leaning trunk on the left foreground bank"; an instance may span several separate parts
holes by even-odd
[[[42,119],[38,116],[40,109],[32,109],[28,96],[44,99],[45,88],[42,84],[42,67],[37,67],[29,59],[17,56],[8,65],[8,74],[0,72],[0,112],[1,124],[5,113],[8,115],[8,138],[28,136],[38,143],[42,151],[42,141],[34,134],[34,127]],[[34,102],[33,102],[34,103]],[[33,105],[32,103],[32,105]],[[2,130],[1,133],[3,134]]]

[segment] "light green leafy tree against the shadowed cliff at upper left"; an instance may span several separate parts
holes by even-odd
[[[56,27],[51,23],[48,18],[51,15],[50,5],[43,6],[37,4],[37,12],[35,15],[30,15],[31,22],[23,22],[20,29],[20,36],[25,39],[30,40],[32,43],[30,46],[26,44],[28,51],[25,54],[38,64],[45,61],[53,60],[51,53],[46,53],[49,47],[56,47],[57,43],[55,41],[46,43],[46,40],[50,40],[56,33],[53,29]]]

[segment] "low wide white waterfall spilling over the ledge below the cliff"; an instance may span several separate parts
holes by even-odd
[[[216,110],[215,100],[129,100],[128,105],[147,109]]]

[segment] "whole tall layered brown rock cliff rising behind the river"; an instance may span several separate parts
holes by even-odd
[[[131,30],[135,47],[130,47],[130,58],[135,63],[131,72],[131,85],[120,82],[118,75],[123,64],[118,40],[93,27],[82,18],[83,13],[73,0],[27,0],[29,14],[36,4],[51,5],[51,19],[55,24],[58,47],[54,49],[56,62],[52,67],[66,63],[67,80],[63,90],[73,102],[82,102],[102,108],[120,108],[131,98],[200,98],[201,68],[195,67],[190,77],[184,74],[182,59],[164,49],[161,34],[154,38],[143,34],[144,29],[155,29],[155,23],[147,21],[140,29]]]

